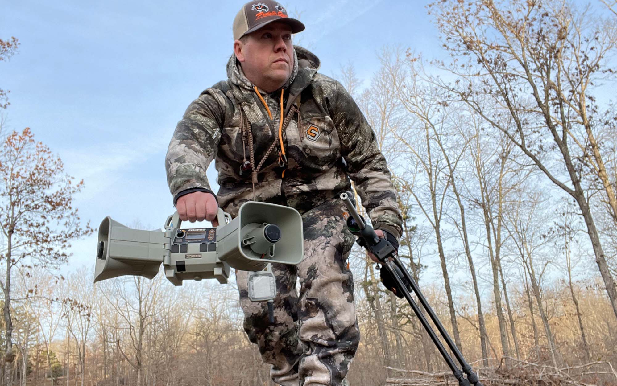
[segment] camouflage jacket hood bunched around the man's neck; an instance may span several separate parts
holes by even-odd
[[[294,46],[294,68],[291,70],[289,79],[283,84],[283,88],[288,89],[290,86],[297,88],[299,84],[294,84],[294,81],[302,80],[301,83],[305,83],[307,78],[312,78],[317,73],[320,65],[321,62],[315,54],[303,47]],[[230,60],[227,62],[227,77],[236,86],[253,91],[253,84],[244,75],[235,54],[231,54]],[[305,87],[307,84],[302,84],[302,86]]]

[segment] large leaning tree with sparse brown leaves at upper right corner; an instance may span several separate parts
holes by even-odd
[[[604,161],[609,150],[597,140],[614,113],[603,113],[593,96],[597,81],[615,80],[607,64],[615,54],[617,19],[594,18],[562,0],[449,0],[431,4],[431,12],[455,58],[443,67],[457,76],[454,83],[436,81],[576,200],[617,317],[617,289],[586,192],[599,184],[617,214],[615,176]],[[511,125],[503,125],[504,114]]]

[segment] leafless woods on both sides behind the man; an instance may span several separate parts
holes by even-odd
[[[617,384],[617,3],[603,5],[437,1],[448,60],[384,47],[370,80],[336,75],[389,162],[399,255],[485,385]],[[0,61],[18,49],[0,40]],[[72,206],[87,188],[30,129],[2,139],[5,385],[271,384],[234,285],[57,274],[94,231]],[[359,248],[350,265],[350,384],[453,382]]]

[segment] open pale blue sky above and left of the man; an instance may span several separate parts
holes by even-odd
[[[19,53],[0,63],[10,90],[7,129],[29,126],[67,172],[85,180],[84,220],[109,215],[157,228],[172,213],[164,157],[173,129],[199,93],[226,78],[239,1],[23,1],[0,6],[0,38]],[[376,52],[439,47],[424,1],[287,1],[306,30],[294,37],[336,75],[352,62],[365,80]],[[209,178],[215,184],[213,165]],[[71,267],[93,265],[96,237],[73,242]]]

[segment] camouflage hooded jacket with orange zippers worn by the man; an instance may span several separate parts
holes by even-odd
[[[295,51],[294,69],[283,86],[283,112],[281,91],[256,92],[234,55],[227,65],[228,80],[206,89],[189,105],[165,158],[174,203],[187,192],[210,191],[205,171],[213,159],[220,185],[218,205],[231,216],[254,195],[257,201],[304,213],[350,189],[349,176],[374,228],[399,238],[402,219],[375,134],[341,84],[317,73],[319,59],[302,47]],[[279,141],[281,117],[287,157],[282,167],[280,146],[273,145]],[[255,164],[275,146],[259,168],[254,192],[251,171],[241,172],[251,153],[247,125]]]

